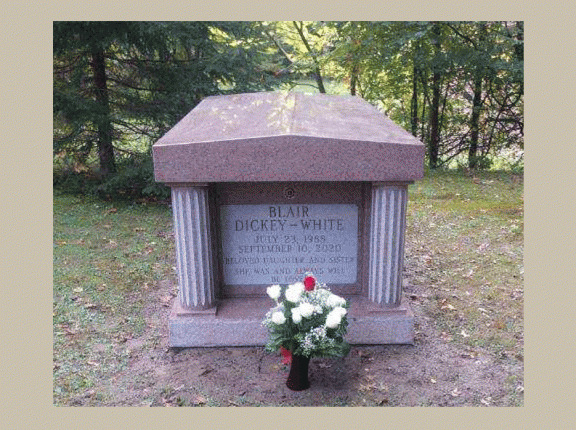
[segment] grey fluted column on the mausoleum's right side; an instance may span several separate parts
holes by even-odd
[[[402,298],[407,185],[372,185],[368,297],[397,306]]]

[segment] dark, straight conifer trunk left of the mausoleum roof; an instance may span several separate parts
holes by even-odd
[[[110,120],[110,101],[106,84],[106,63],[104,52],[96,50],[92,53],[92,72],[96,86],[96,102],[98,104],[98,156],[100,158],[100,174],[103,177],[116,173],[114,147],[112,146],[112,122]]]

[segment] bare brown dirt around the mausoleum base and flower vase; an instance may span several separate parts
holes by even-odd
[[[170,283],[161,283],[173,291]],[[426,294],[407,285],[414,345],[353,346],[340,359],[313,358],[311,387],[293,392],[280,355],[261,347],[170,348],[170,303],[145,310],[148,327],[117,348],[129,356],[76,406],[521,406],[523,362],[446,339],[421,311]],[[96,348],[98,345],[96,345]]]

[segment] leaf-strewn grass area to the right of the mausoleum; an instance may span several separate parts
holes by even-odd
[[[407,264],[426,268],[415,282],[427,285],[438,329],[455,342],[522,357],[521,178],[432,172],[410,186],[409,199]]]

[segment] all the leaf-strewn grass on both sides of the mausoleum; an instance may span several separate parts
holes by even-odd
[[[140,348],[162,354],[160,330],[150,328],[166,321],[156,321],[146,309],[151,301],[171,298],[157,286],[175,281],[172,215],[163,204],[57,193],[53,224],[53,400],[74,405],[79,393],[115,384],[136,348],[131,340],[143,332],[152,334]],[[419,300],[420,316],[433,321],[443,340],[470,354],[482,348],[502,360],[523,360],[523,226],[518,175],[436,171],[410,185],[406,293],[426,296]],[[142,391],[146,383],[135,381],[131,388]],[[506,386],[518,404],[520,384],[511,377]],[[402,405],[394,387],[376,388],[374,396],[359,386],[325,404]],[[168,386],[164,392],[152,389],[141,394],[141,403],[162,406],[161,399],[169,398],[172,405],[227,405],[208,392],[192,401],[172,392]],[[102,396],[96,390],[90,402],[115,401]],[[229,401],[268,406],[237,394]]]

